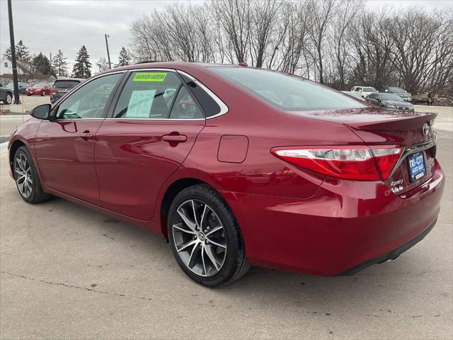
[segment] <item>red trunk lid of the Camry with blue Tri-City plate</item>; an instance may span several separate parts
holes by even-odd
[[[348,126],[366,145],[398,145],[403,154],[386,183],[401,195],[424,183],[435,169],[436,113],[384,111],[365,108],[340,111],[304,112],[304,116]],[[422,162],[423,159],[423,162]],[[423,170],[423,163],[425,171]],[[412,174],[412,176],[411,176]]]

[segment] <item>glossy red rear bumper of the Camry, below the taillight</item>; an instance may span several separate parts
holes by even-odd
[[[306,200],[222,192],[251,264],[333,276],[398,256],[433,226],[445,186],[437,162],[401,196],[382,182],[326,182]]]

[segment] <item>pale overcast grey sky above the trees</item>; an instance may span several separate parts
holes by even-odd
[[[180,0],[12,0],[14,37],[16,43],[23,40],[30,55],[44,53],[49,57],[62,50],[71,64],[81,45],[85,45],[91,62],[107,57],[104,34],[110,35],[109,47],[112,63],[122,46],[129,45],[129,26],[137,18],[189,1]],[[203,0],[191,0],[200,4]],[[452,0],[366,0],[369,8],[381,6],[423,6],[428,8],[452,8]],[[0,0],[0,52],[9,46],[8,6]],[[71,71],[71,69],[70,69]]]

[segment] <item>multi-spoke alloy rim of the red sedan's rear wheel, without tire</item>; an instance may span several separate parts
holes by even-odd
[[[226,258],[226,234],[218,215],[201,200],[186,200],[173,215],[173,242],[181,261],[198,276],[219,273]]]

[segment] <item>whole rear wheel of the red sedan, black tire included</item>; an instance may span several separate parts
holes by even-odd
[[[190,186],[178,193],[167,228],[173,256],[197,283],[226,285],[250,268],[236,217],[210,186]]]

